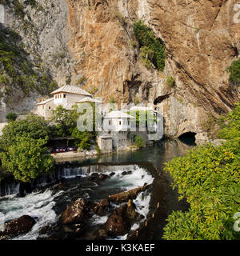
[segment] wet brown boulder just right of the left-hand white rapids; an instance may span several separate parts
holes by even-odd
[[[84,222],[86,218],[90,218],[90,207],[87,206],[86,201],[83,198],[78,198],[70,206],[66,207],[66,210],[62,214],[63,224],[77,224]]]

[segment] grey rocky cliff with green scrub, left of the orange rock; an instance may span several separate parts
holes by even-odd
[[[8,29],[13,31],[15,37],[19,37],[16,42],[13,42],[13,38],[7,35],[5,43],[9,46],[12,44],[10,50],[15,48],[24,52],[27,69],[34,70],[38,74],[32,86],[34,89],[26,92],[22,86],[19,86],[24,75],[30,77],[30,74],[22,71],[25,60],[14,58],[10,63],[15,73],[18,73],[14,76],[9,76],[6,66],[0,62],[1,75],[7,74],[9,79],[8,85],[2,84],[2,81],[0,84],[0,92],[3,95],[0,97],[0,122],[4,122],[6,113],[9,111],[24,114],[34,110],[36,101],[46,97],[47,90],[41,89],[44,86],[50,86],[50,81],[55,79],[59,85],[66,82],[66,78],[70,76],[74,58],[70,57],[68,50],[71,33],[69,9],[65,1],[1,0],[0,4],[5,10],[1,30],[6,33]],[[19,82],[14,84],[14,80]],[[25,81],[22,83],[26,84]],[[7,87],[9,90],[6,90]]]

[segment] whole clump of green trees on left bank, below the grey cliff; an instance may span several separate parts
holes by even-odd
[[[34,114],[10,122],[3,128],[0,139],[2,169],[22,182],[30,182],[51,170],[54,158],[45,146],[50,134],[49,123]]]

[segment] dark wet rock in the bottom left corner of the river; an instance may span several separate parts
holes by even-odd
[[[4,224],[4,231],[0,232],[0,239],[11,238],[19,234],[27,233],[36,221],[29,215],[23,215]]]

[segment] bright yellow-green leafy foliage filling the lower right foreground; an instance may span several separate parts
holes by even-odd
[[[240,239],[233,217],[240,212],[239,105],[226,117],[220,132],[222,146],[198,146],[185,157],[166,163],[181,198],[190,209],[174,211],[167,219],[163,238]]]

